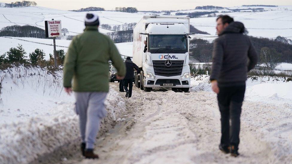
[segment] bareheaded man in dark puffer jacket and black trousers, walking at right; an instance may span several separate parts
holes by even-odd
[[[244,100],[247,72],[258,61],[250,38],[244,35],[244,24],[234,22],[228,15],[217,18],[217,34],[212,53],[212,90],[217,93],[221,114],[219,149],[238,156],[240,115]],[[231,125],[229,124],[231,119]],[[230,127],[230,130],[229,130]]]

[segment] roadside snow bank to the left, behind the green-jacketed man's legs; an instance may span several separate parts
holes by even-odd
[[[74,96],[63,92],[62,74],[38,66],[1,65],[0,163],[28,163],[79,139]],[[105,106],[101,133],[125,111],[124,100],[111,88]]]

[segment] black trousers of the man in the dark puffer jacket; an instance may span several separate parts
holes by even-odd
[[[219,86],[218,105],[221,113],[222,146],[234,145],[238,148],[241,106],[244,100],[245,85]],[[231,119],[231,128],[229,125]]]

